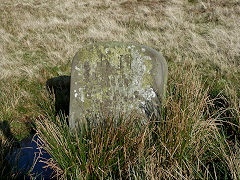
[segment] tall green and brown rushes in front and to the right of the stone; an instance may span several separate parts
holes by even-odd
[[[239,145],[223,136],[221,110],[196,68],[189,63],[170,73],[162,118],[143,126],[136,116],[102,118],[71,134],[64,118],[46,116],[37,129],[61,178],[219,179],[239,178]],[[179,73],[184,71],[183,76]],[[124,121],[122,121],[122,119]],[[118,121],[117,128],[113,121]]]

